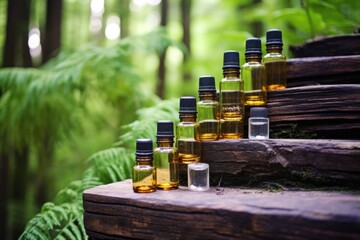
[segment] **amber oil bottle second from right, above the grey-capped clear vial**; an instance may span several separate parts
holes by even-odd
[[[261,40],[246,40],[245,60],[241,68],[244,81],[245,106],[263,106],[266,104],[266,73],[261,63]]]

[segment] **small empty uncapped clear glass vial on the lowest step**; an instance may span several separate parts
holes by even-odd
[[[188,165],[188,188],[190,191],[207,191],[209,184],[209,164],[191,163]]]

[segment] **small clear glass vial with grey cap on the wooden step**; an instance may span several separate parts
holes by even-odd
[[[250,109],[249,139],[269,139],[269,119],[266,108],[253,107]]]

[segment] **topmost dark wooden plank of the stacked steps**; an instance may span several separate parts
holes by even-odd
[[[302,45],[290,46],[294,57],[339,56],[360,54],[360,34],[324,36]]]

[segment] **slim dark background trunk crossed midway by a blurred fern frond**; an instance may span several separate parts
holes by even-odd
[[[167,21],[168,21],[168,0],[162,0],[160,26],[166,27]],[[166,49],[159,56],[158,85],[156,88],[156,94],[160,98],[164,98],[164,91],[165,91],[165,77],[166,77],[165,55],[166,55]]]

